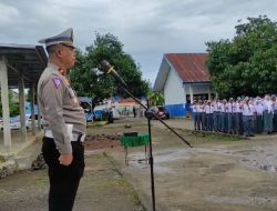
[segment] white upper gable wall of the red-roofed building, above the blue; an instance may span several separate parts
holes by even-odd
[[[170,70],[164,86],[165,104],[185,103],[185,96],[183,82],[178,74],[175,71]]]

